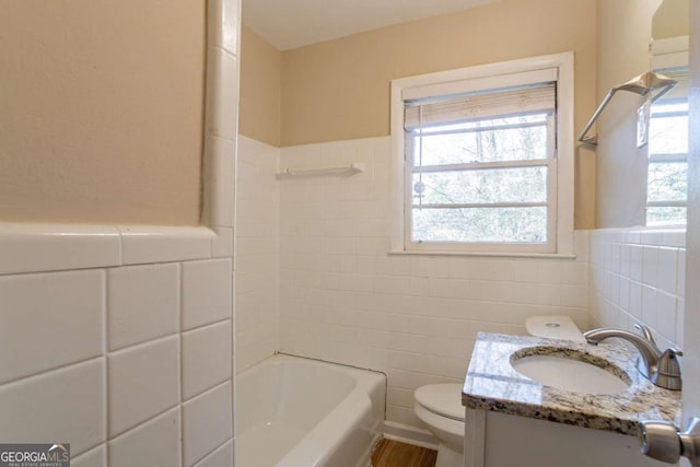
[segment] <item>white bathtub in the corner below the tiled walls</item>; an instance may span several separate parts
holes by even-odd
[[[386,377],[278,354],[236,375],[236,467],[368,467]]]

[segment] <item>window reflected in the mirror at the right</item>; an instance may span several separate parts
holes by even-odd
[[[678,84],[651,106],[646,225],[685,225],[688,201],[688,70],[662,70]]]

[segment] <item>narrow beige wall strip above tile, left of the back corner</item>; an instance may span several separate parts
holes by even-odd
[[[281,65],[281,52],[242,27],[238,131],[275,147],[280,145]]]

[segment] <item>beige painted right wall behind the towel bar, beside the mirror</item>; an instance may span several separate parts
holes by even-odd
[[[598,0],[598,102],[610,87],[650,68],[652,16],[661,0]],[[596,226],[644,225],[646,148],[637,148],[643,97],[619,92],[596,125]]]

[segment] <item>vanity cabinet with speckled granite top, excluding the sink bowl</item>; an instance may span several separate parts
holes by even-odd
[[[575,385],[573,376],[545,385],[515,370],[520,359],[533,355],[593,364],[620,377],[626,386],[563,388],[563,383]],[[667,466],[640,453],[637,422],[678,424],[680,392],[657,387],[643,377],[637,370],[638,355],[622,345],[479,332],[462,392],[464,466]]]

